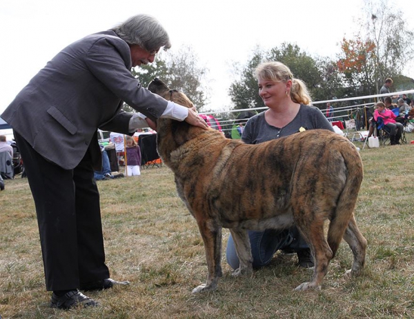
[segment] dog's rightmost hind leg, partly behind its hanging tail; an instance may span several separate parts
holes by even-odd
[[[347,273],[351,273],[354,276],[359,274],[364,267],[367,246],[366,239],[359,231],[354,216],[349,220],[348,227],[345,230],[344,240],[351,247],[354,257],[352,269],[348,270]]]

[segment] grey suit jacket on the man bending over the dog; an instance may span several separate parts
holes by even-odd
[[[72,169],[89,148],[98,169],[97,129],[128,133],[123,101],[150,119],[167,106],[132,76],[131,64],[130,48],[115,32],[90,34],[49,61],[1,117],[49,161]]]

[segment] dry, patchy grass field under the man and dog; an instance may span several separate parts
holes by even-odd
[[[408,142],[414,136],[408,135]],[[362,145],[358,145],[362,148]],[[93,309],[49,307],[34,203],[26,178],[0,193],[0,315],[5,318],[414,318],[414,145],[361,151],[364,182],[356,219],[368,240],[362,276],[348,279],[345,242],[321,291],[293,291],[311,271],[295,255],[233,278],[223,256],[217,291],[191,294],[206,279],[204,247],[192,216],[175,193],[170,170],[98,182],[106,260],[126,288],[92,292]],[[224,230],[224,247],[228,230]]]

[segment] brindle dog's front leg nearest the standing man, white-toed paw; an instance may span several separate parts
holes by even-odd
[[[193,289],[193,294],[201,291],[215,290],[219,277],[223,276],[221,271],[221,225],[213,220],[199,222],[199,230],[206,249],[206,260],[208,267],[207,282]]]

